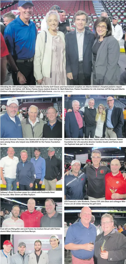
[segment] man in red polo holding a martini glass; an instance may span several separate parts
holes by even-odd
[[[119,171],[121,165],[118,159],[113,159],[110,164],[111,172],[105,175],[105,197],[106,200],[111,199],[126,199],[126,181],[123,178],[121,171]],[[115,193],[112,193],[111,187],[117,189]]]

